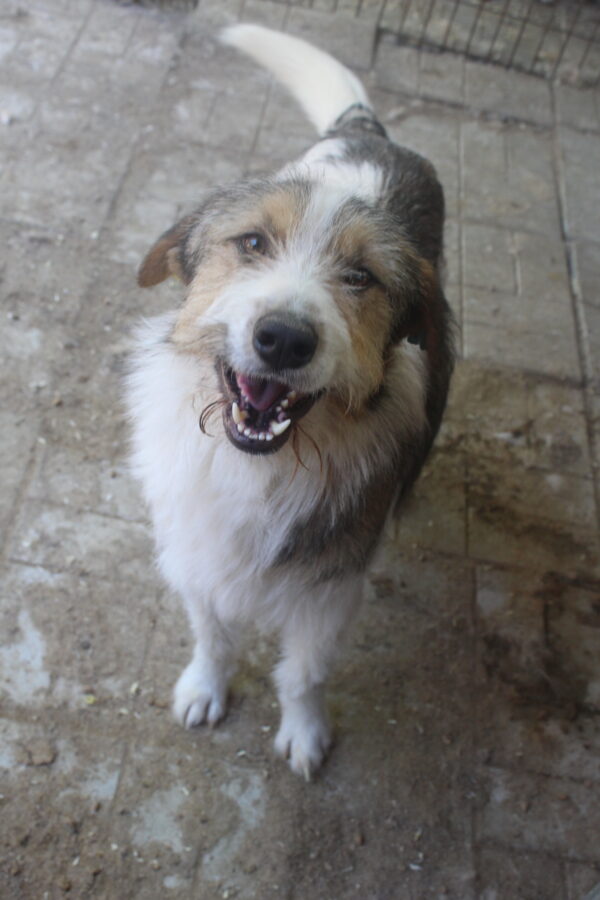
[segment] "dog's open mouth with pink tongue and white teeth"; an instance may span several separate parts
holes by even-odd
[[[317,394],[302,394],[281,381],[243,375],[222,364],[227,406],[223,423],[229,440],[247,453],[275,453],[286,443],[295,423],[305,416]]]

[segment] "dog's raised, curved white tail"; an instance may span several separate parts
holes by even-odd
[[[291,91],[321,135],[349,107],[362,107],[363,114],[365,107],[371,110],[358,78],[306,41],[262,25],[232,25],[221,32],[221,40],[272,72]]]

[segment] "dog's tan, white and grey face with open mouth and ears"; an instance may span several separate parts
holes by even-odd
[[[214,363],[226,433],[255,454],[279,450],[323,396],[357,411],[377,394],[433,279],[385,206],[294,178],[211,195],[159,239],[139,282],[169,274],[187,284],[172,340]]]

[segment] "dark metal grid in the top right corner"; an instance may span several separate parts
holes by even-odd
[[[577,84],[600,81],[597,0],[386,0],[379,27],[399,43]]]

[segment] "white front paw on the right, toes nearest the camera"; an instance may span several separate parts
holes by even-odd
[[[312,704],[295,701],[284,709],[275,738],[275,751],[289,761],[292,772],[310,781],[321,767],[331,745],[325,713]]]

